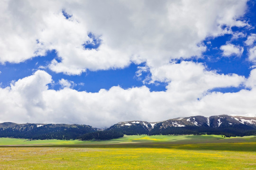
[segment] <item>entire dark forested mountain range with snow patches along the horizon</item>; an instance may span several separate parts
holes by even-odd
[[[180,117],[159,122],[125,121],[107,129],[89,125],[0,123],[0,137],[27,139],[111,139],[123,135],[216,134],[224,136],[256,135],[256,118],[219,115]]]

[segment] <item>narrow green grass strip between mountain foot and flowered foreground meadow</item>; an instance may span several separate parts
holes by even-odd
[[[1,145],[69,145],[69,144],[143,144],[143,143],[169,143],[169,144],[198,144],[198,143],[230,143],[230,142],[256,142],[256,136],[230,137],[220,135],[125,135],[124,137],[102,141],[80,140],[28,140],[16,138],[0,138]]]

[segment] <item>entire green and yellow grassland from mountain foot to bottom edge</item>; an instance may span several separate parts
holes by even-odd
[[[256,170],[256,136],[124,136],[98,142],[0,138],[0,145],[0,170]]]

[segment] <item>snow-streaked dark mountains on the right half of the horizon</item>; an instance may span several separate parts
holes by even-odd
[[[168,119],[160,122],[127,121],[119,122],[107,130],[115,130],[126,135],[148,134],[222,134],[245,136],[256,134],[256,118],[241,116],[192,116]]]

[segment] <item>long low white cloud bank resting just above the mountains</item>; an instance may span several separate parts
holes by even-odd
[[[80,123],[109,127],[126,120],[159,121],[180,116],[209,116],[212,105],[216,107],[216,114],[226,110],[223,105],[227,103],[226,107],[231,108],[227,113],[236,114],[236,109],[241,110],[238,106],[232,109],[232,97],[219,104],[220,94],[207,91],[215,87],[238,86],[245,81],[242,76],[220,75],[192,62],[166,65],[153,72],[164,74],[159,80],[171,81],[165,92],[150,92],[146,86],[129,89],[114,86],[98,93],[78,92],[68,87],[56,91],[48,89],[47,85],[52,83],[51,76],[38,70],[10,87],[0,88],[0,122]],[[251,95],[249,91],[247,93]],[[244,101],[238,100],[241,107],[245,107],[246,102],[252,103],[251,98],[242,99]],[[218,107],[215,103],[219,104]],[[250,106],[240,114],[255,111],[255,107]]]

